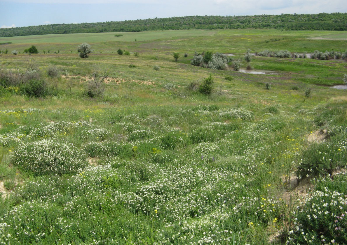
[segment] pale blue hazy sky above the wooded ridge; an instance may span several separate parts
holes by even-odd
[[[0,27],[192,15],[347,12],[347,0],[0,0]],[[97,3],[96,3],[97,2]]]

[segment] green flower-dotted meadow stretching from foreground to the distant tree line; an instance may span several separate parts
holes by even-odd
[[[0,38],[11,42],[0,45],[0,244],[346,244],[347,90],[331,88],[346,61],[252,57],[271,74],[190,63],[195,51],[342,53],[346,40],[309,38],[344,35]],[[94,51],[82,59],[85,42]],[[23,52],[31,45],[39,54]],[[26,76],[46,92],[6,83]],[[88,93],[93,82],[101,96]]]

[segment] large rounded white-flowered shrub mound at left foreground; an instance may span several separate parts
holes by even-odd
[[[52,140],[20,144],[11,163],[36,176],[73,173],[87,165],[86,155],[73,144]]]

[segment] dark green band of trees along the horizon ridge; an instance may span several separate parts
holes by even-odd
[[[2,28],[0,29],[0,37],[65,33],[238,28],[347,30],[347,13],[254,16],[185,16],[80,24],[51,24],[8,29]]]

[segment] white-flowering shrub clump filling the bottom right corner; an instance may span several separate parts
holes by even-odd
[[[318,188],[293,211],[287,244],[347,244],[346,174],[319,180]]]

